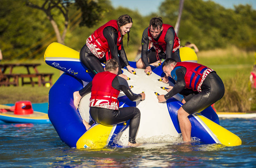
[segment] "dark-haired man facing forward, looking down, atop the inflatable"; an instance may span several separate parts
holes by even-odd
[[[149,41],[152,47],[148,50]],[[158,66],[161,59],[172,58],[180,62],[179,47],[180,40],[177,37],[174,27],[163,24],[161,17],[154,17],[150,20],[149,26],[142,34],[141,58],[137,61],[137,68],[145,68],[145,73],[152,73],[151,65]],[[149,46],[150,47],[150,46]]]

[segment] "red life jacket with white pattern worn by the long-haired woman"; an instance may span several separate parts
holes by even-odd
[[[106,60],[113,58],[110,52],[110,55],[108,55],[109,51],[109,44],[107,39],[103,35],[103,30],[105,27],[114,27],[118,31],[118,39],[117,39],[117,47],[118,50],[121,50],[122,45],[122,36],[121,32],[118,30],[118,25],[116,20],[110,20],[103,26],[99,27],[97,30],[95,30],[87,39],[86,39],[86,45],[89,48],[89,50],[99,59],[103,58],[106,53]]]

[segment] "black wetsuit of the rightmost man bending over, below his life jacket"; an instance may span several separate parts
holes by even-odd
[[[212,71],[207,75],[201,86],[201,92],[193,91],[192,89],[185,88],[185,74],[187,69],[183,66],[176,69],[177,80],[172,90],[170,90],[164,98],[168,100],[177,93],[184,95],[185,104],[182,108],[188,114],[198,113],[210,105],[220,100],[224,93],[225,88],[222,80]]]

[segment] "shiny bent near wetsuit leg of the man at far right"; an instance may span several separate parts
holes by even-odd
[[[201,90],[200,93],[184,97],[186,103],[182,107],[187,113],[195,114],[204,110],[220,100],[225,93],[224,84],[216,72],[211,72],[205,78]]]

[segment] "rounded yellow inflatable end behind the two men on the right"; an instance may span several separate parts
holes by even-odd
[[[182,62],[195,62],[197,63],[197,55],[195,51],[189,47],[182,47],[179,49],[180,60]]]

